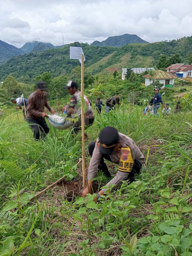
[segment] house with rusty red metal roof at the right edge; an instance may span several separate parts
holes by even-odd
[[[178,77],[192,77],[192,65],[176,63],[166,68],[166,70]]]

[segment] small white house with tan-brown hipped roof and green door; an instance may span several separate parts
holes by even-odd
[[[144,75],[145,77],[145,85],[154,84],[155,81],[159,80],[159,83],[163,84],[162,88],[165,87],[165,85],[173,85],[175,78],[177,78],[175,75],[172,75],[170,73],[164,72],[163,70],[156,70],[155,75],[153,77],[150,77],[149,74]]]

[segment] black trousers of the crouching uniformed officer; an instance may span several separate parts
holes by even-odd
[[[90,156],[92,157],[92,154],[93,154],[93,150],[95,148],[95,141],[94,142],[91,142],[88,146],[88,150],[89,150],[89,154]],[[104,159],[111,161],[111,158],[110,158],[110,155],[105,155],[105,154],[102,154],[102,157],[101,157],[101,160],[100,160],[100,164],[103,164],[104,163]],[[135,173],[136,174],[139,174],[140,170],[141,170],[141,167],[142,167],[142,164],[138,161],[138,160],[134,160],[134,164],[133,164],[133,169],[132,171],[129,173],[129,176],[127,178],[127,180],[130,180],[130,182],[132,182],[134,180],[134,175]]]

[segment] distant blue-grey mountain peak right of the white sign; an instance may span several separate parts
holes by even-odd
[[[96,40],[92,43],[92,45],[121,47],[128,43],[148,43],[148,42],[141,39],[137,35],[124,34],[124,35],[110,36],[106,40],[101,42]]]

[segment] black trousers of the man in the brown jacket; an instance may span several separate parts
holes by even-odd
[[[44,117],[34,117],[27,118],[28,123],[30,123],[29,127],[33,131],[33,138],[35,140],[40,139],[40,131],[41,131],[41,139],[44,139],[45,135],[49,132],[49,127],[45,121]],[[40,130],[40,131],[39,131]]]

